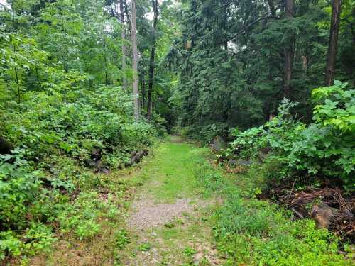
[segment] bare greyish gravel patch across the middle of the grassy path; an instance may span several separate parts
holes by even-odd
[[[178,199],[175,204],[155,204],[151,199],[136,201],[133,204],[136,211],[129,218],[129,226],[136,230],[160,226],[196,207],[189,199]]]

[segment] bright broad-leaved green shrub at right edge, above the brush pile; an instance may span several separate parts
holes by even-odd
[[[278,179],[307,174],[334,178],[346,189],[355,189],[355,90],[345,87],[336,82],[313,91],[315,123],[309,126],[290,115],[295,104],[284,100],[277,117],[238,134],[228,153],[256,158],[262,148],[268,148],[268,161],[278,161]]]

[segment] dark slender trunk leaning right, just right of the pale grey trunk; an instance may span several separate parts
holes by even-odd
[[[158,24],[158,0],[152,0],[153,10],[154,10],[154,18],[153,18],[153,43],[151,48],[151,60],[149,67],[149,83],[148,83],[148,102],[147,102],[147,118],[148,120],[152,119],[152,109],[153,109],[153,80],[154,80],[154,67],[155,67],[155,30]]]

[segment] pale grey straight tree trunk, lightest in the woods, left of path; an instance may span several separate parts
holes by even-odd
[[[136,120],[139,119],[138,99],[138,50],[137,50],[137,26],[136,26],[136,0],[131,1],[131,40],[132,40],[132,67],[133,67],[133,111]]]

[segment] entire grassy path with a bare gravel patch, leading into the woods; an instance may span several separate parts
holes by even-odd
[[[145,180],[126,223],[121,265],[220,265],[207,222],[216,204],[202,196],[194,170],[204,149],[177,137],[162,143],[139,173]]]

